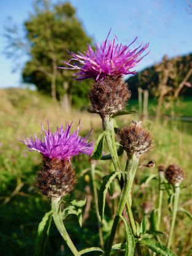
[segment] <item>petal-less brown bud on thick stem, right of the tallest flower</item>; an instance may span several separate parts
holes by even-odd
[[[153,136],[150,130],[143,129],[142,122],[132,121],[130,126],[126,126],[119,131],[121,145],[127,154],[146,153],[152,149]]]

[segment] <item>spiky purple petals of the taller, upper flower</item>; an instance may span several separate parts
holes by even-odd
[[[109,35],[110,33],[108,33],[108,36]],[[138,48],[134,49],[134,46],[132,49],[129,49],[129,46],[131,46],[137,38],[135,38],[129,46],[122,46],[119,42],[115,45],[115,38],[118,40],[116,36],[113,40],[107,41],[108,36],[105,42],[103,41],[100,44],[97,42],[95,44],[95,52],[89,44],[87,44],[87,52],[84,52],[85,55],[81,54],[81,52],[77,55],[68,51],[73,58],[71,58],[68,63],[63,63],[71,66],[71,68],[64,69],[79,70],[79,73],[73,74],[73,76],[79,75],[79,78],[74,78],[74,80],[79,80],[81,82],[83,79],[94,78],[98,81],[98,79],[103,80],[107,75],[122,76],[123,74],[137,74],[137,71],[130,71],[130,68],[137,66],[142,58],[147,55],[141,57],[144,50],[148,48],[149,43],[144,44],[142,47],[142,42]],[[138,50],[140,47],[142,48]],[[71,65],[71,60],[78,62],[74,62],[74,65]]]

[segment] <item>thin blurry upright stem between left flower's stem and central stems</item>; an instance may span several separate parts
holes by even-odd
[[[96,186],[96,180],[95,180],[95,164],[91,164],[91,176],[92,176],[92,183],[94,188],[94,200],[95,200],[95,208],[96,208],[96,214],[97,214],[97,220],[98,220],[98,234],[100,238],[100,244],[102,249],[104,248],[104,242],[103,242],[103,234],[102,234],[102,228],[101,228],[101,218],[98,211],[98,193],[97,193],[97,186]]]

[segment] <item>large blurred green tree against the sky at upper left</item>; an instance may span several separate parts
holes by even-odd
[[[76,17],[76,9],[70,2],[52,4],[48,0],[39,0],[34,4],[34,13],[24,24],[25,35],[15,41],[15,28],[7,29],[9,55],[15,56],[15,48],[25,49],[30,56],[23,69],[23,81],[34,84],[38,90],[51,94],[54,101],[61,101],[65,110],[71,103],[83,106],[87,104],[86,94],[89,81],[71,79],[73,71],[60,70],[55,66],[64,66],[61,60],[68,62],[70,52],[84,52],[87,42],[92,41]],[[73,97],[72,97],[73,96]],[[80,100],[81,99],[81,100]]]

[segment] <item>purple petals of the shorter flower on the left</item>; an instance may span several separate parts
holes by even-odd
[[[18,140],[20,142],[23,142],[29,149],[29,151],[38,151],[44,158],[56,158],[61,160],[68,160],[75,156],[76,154],[88,154],[90,156],[89,148],[92,146],[94,142],[89,142],[86,140],[87,136],[90,134],[87,134],[86,137],[81,137],[78,135],[79,129],[73,134],[70,132],[71,124],[66,124],[66,130],[63,130],[63,124],[62,127],[58,128],[57,131],[52,133],[49,130],[49,122],[47,120],[48,124],[48,132],[44,130],[41,123],[41,139],[39,139],[36,134],[34,135],[35,140],[33,140],[32,136],[31,139],[27,138],[28,142],[25,140],[23,135],[23,140]],[[80,124],[80,120],[79,120]],[[42,140],[42,130],[45,133],[44,140]],[[71,164],[71,162],[70,162]]]

